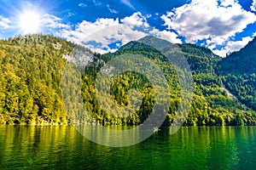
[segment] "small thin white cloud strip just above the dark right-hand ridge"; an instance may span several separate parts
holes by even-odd
[[[248,42],[252,41],[253,37],[243,37],[241,41],[230,41],[224,48],[213,49],[214,54],[218,54],[221,57],[225,57],[226,54],[230,54],[234,51],[239,51],[241,48],[247,45]]]

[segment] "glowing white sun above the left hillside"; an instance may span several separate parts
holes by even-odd
[[[35,11],[26,11],[19,16],[20,31],[24,34],[40,31],[40,15]]]

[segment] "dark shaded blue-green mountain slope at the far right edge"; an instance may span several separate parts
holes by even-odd
[[[256,38],[223,59],[219,74],[224,84],[244,105],[256,111]]]

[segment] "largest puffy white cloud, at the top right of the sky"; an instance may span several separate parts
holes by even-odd
[[[220,4],[218,4],[220,3]],[[207,41],[223,45],[237,32],[256,21],[256,15],[241,8],[234,0],[192,0],[191,3],[176,8],[161,16],[167,29],[174,29],[186,42]]]

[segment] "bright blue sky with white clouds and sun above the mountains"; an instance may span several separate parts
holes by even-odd
[[[256,36],[256,0],[0,0],[0,38],[44,33],[97,53],[154,36],[225,57]]]

